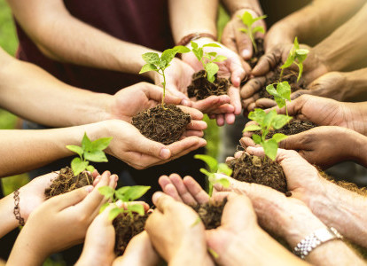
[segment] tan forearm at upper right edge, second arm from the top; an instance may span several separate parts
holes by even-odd
[[[364,4],[352,19],[347,20],[313,48],[330,70],[340,71],[365,66],[367,28],[363,25],[367,23],[366,12],[367,4]]]

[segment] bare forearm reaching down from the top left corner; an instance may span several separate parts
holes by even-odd
[[[144,65],[141,55],[152,51],[75,19],[63,1],[10,0],[9,4],[27,35],[51,59],[137,74]]]

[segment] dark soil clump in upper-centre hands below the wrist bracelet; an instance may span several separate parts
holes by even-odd
[[[226,95],[230,88],[230,81],[224,78],[218,78],[215,74],[215,81],[207,80],[207,71],[200,70],[192,74],[192,82],[187,87],[187,93],[190,98],[195,97],[198,100],[208,98],[209,96]]]

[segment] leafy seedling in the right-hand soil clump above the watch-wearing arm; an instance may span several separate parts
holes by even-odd
[[[262,131],[262,136],[253,134],[254,143],[262,145],[265,155],[271,160],[275,160],[277,157],[277,144],[284,140],[287,136],[282,133],[276,133],[270,139],[266,139],[270,129],[281,129],[286,123],[292,120],[292,117],[284,114],[277,114],[276,110],[272,110],[269,113],[265,113],[262,109],[255,109],[254,112],[248,114],[248,118],[256,121],[257,125],[246,126],[246,131]]]

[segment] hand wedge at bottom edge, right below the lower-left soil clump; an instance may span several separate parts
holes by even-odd
[[[154,250],[146,231],[142,231],[129,242],[122,256],[113,261],[113,266],[154,266],[160,262],[160,255]]]

